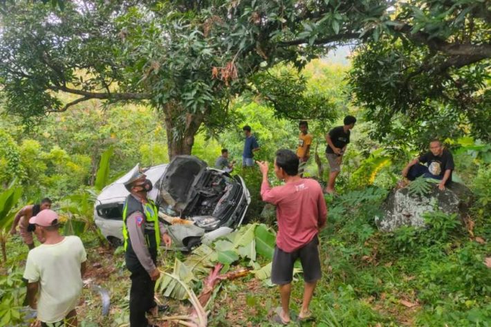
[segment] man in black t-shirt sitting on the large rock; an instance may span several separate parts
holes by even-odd
[[[421,163],[427,163],[427,166]],[[438,189],[445,190],[445,185],[452,182],[454,170],[454,157],[452,153],[443,147],[440,140],[429,142],[429,152],[419,156],[402,169],[402,176],[409,180],[415,180],[419,176],[441,180]]]

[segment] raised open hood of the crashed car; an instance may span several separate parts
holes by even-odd
[[[182,211],[192,197],[192,187],[206,162],[195,156],[175,156],[172,158],[160,182],[160,196],[175,210]]]

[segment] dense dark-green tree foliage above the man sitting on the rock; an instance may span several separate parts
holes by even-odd
[[[485,1],[400,3],[387,33],[358,47],[349,74],[376,122],[372,136],[425,147],[467,133],[490,141],[490,23]]]

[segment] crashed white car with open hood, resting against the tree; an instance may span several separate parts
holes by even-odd
[[[122,209],[129,192],[123,181],[138,165],[102,189],[94,205],[94,219],[106,239],[122,244]],[[241,225],[250,194],[240,176],[207,167],[195,156],[176,156],[168,165],[145,170],[154,184],[148,197],[159,207],[159,219],[167,225],[176,250],[192,250],[210,243]]]

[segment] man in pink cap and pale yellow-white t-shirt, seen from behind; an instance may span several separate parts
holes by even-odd
[[[29,251],[24,279],[29,306],[37,310],[36,327],[77,326],[75,306],[82,293],[87,255],[77,236],[58,232],[58,215],[44,209],[29,219],[44,243]],[[39,293],[39,297],[37,297]]]

